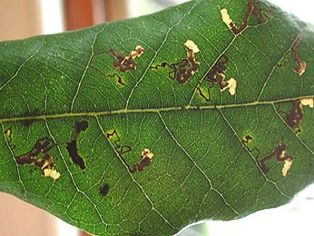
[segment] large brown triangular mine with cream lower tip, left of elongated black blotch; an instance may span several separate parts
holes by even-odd
[[[54,169],[54,158],[50,153],[55,145],[56,143],[49,138],[39,139],[30,152],[15,156],[15,161],[18,165],[39,167],[42,169],[44,176],[57,180],[60,177],[60,173]]]

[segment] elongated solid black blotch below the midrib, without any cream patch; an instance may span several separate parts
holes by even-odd
[[[80,121],[74,123],[74,139],[66,143],[66,150],[69,153],[69,156],[71,157],[74,164],[78,165],[81,170],[84,170],[86,168],[85,163],[83,161],[83,158],[78,153],[77,148],[77,137],[80,133],[87,130],[89,124],[87,121]]]

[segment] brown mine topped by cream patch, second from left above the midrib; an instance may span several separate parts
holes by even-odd
[[[200,52],[199,47],[191,40],[187,40],[184,44],[187,52],[187,58],[176,64],[168,64],[163,62],[151,66],[151,69],[158,69],[159,67],[168,66],[172,71],[168,73],[168,76],[173,80],[178,81],[180,84],[186,84],[191,76],[200,71],[200,63],[196,61],[195,54]],[[173,75],[172,75],[173,74]]]

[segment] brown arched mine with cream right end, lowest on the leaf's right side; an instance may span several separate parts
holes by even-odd
[[[293,156],[285,155],[287,152],[287,144],[280,142],[276,149],[270,154],[260,159],[260,169],[262,172],[267,173],[270,170],[266,167],[266,161],[270,160],[272,157],[276,157],[277,162],[284,162],[282,167],[282,176],[285,177],[291,168],[293,162]]]

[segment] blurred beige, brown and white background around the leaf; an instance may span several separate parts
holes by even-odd
[[[0,41],[136,17],[187,0],[0,0]],[[306,22],[314,23],[311,0],[270,0]],[[180,236],[314,235],[314,186],[277,209],[259,211],[237,221],[206,221]],[[19,222],[19,223],[16,223]],[[0,236],[81,236],[83,231],[53,215],[0,192]]]

